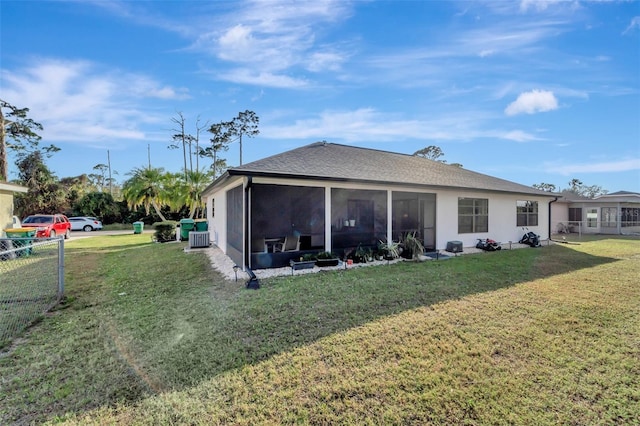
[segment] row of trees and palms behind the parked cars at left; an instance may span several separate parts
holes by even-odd
[[[172,173],[153,167],[137,167],[127,173],[122,185],[115,182],[109,164],[97,164],[93,173],[58,179],[46,165],[46,158],[60,151],[55,145],[42,146],[38,134],[43,126],[28,117],[28,108],[18,108],[0,100],[0,182],[8,181],[8,153],[13,152],[18,178],[14,183],[26,186],[26,194],[16,194],[16,214],[65,213],[73,216],[100,217],[105,224],[147,223],[204,217],[202,191],[226,168],[222,153],[234,142],[259,134],[259,118],[253,111],[239,112],[228,121],[211,124],[196,120],[195,134],[186,131],[186,118],[172,118],[169,149],[182,152],[182,171]],[[208,141],[201,136],[208,132]],[[200,159],[209,158],[209,167]],[[108,191],[107,191],[108,190]]]

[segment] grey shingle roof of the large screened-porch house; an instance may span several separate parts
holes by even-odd
[[[229,175],[348,180],[463,188],[553,197],[504,179],[457,166],[375,149],[316,142],[228,170]]]

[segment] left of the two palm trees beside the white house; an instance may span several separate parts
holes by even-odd
[[[145,212],[149,214],[149,208],[153,207],[160,219],[166,221],[160,211],[160,207],[170,199],[164,185],[167,180],[164,169],[138,167],[130,174],[132,177],[124,183],[122,188],[122,196],[129,208],[143,206]]]

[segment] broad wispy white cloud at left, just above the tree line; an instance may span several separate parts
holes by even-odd
[[[158,122],[144,104],[183,99],[185,89],[120,71],[101,70],[88,61],[37,59],[18,70],[2,70],[3,98],[44,127],[45,140],[87,145],[118,139],[145,139],[140,126]]]

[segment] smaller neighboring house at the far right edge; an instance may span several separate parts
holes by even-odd
[[[553,233],[640,233],[640,193],[618,191],[586,198],[563,192],[551,207]]]

